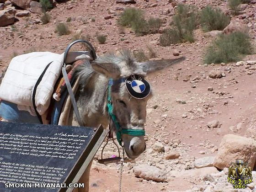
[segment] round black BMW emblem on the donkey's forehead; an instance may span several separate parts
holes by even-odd
[[[127,91],[136,99],[143,99],[150,93],[150,85],[140,75],[130,75],[125,80]]]

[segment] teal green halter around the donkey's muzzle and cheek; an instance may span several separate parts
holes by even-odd
[[[123,80],[121,80],[123,82]],[[122,134],[128,134],[132,136],[144,136],[145,130],[138,130],[138,129],[122,129],[120,124],[117,122],[117,117],[113,113],[113,104],[111,99],[111,86],[113,85],[113,80],[110,79],[108,83],[108,95],[107,95],[107,111],[110,117],[112,118],[112,121],[116,127],[116,135],[117,135],[117,141],[122,146]]]

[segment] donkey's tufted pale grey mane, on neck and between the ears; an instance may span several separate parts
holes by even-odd
[[[96,59],[96,63],[112,63],[112,64],[120,64],[121,62],[125,62],[125,64],[129,67],[134,66],[134,62],[136,59],[133,56],[133,53],[129,49],[121,49],[118,53],[110,52],[104,54]],[[75,77],[80,76],[80,86],[83,88],[90,81],[91,77],[99,76],[92,67],[88,60],[85,60],[84,64],[79,65],[75,70]]]

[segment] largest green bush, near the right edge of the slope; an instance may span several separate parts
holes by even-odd
[[[221,34],[207,49],[205,63],[227,63],[241,59],[243,55],[252,54],[253,47],[248,34],[234,32]]]

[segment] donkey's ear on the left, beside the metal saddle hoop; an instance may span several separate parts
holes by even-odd
[[[112,63],[99,64],[99,63],[96,63],[96,61],[92,61],[91,66],[98,73],[101,73],[113,79],[117,79],[121,75],[121,70],[116,64],[112,64]]]

